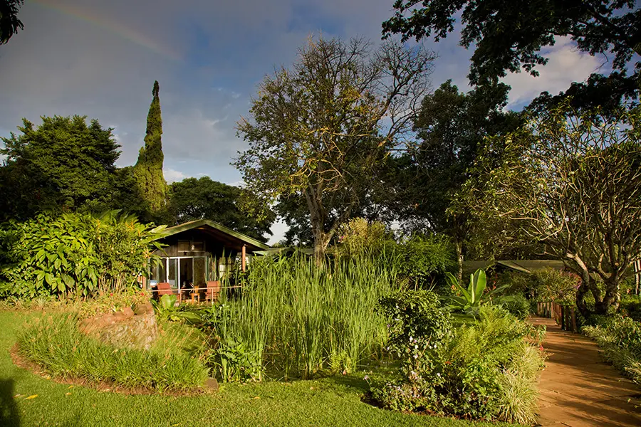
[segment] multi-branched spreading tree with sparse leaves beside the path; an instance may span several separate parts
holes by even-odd
[[[502,150],[496,167],[489,159]],[[491,138],[467,185],[467,201],[484,221],[510,221],[582,278],[577,305],[605,314],[641,256],[641,110],[579,113],[565,102],[531,117],[506,137]],[[605,291],[598,286],[605,284]]]

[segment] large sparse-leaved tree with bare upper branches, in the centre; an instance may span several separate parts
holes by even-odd
[[[249,149],[234,164],[264,203],[304,200],[318,262],[410,130],[433,59],[397,42],[311,39],[259,86],[238,124]]]

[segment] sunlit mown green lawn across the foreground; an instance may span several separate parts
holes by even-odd
[[[0,426],[508,426],[374,408],[360,401],[367,390],[362,375],[225,384],[214,396],[197,397],[70,389],[11,362],[16,333],[35,317],[0,310]]]

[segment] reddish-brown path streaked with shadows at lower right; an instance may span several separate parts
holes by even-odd
[[[641,426],[641,388],[605,364],[594,342],[551,319],[531,322],[548,329],[538,426]]]

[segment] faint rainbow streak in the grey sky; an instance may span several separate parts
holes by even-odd
[[[127,41],[135,43],[138,46],[142,46],[143,48],[147,48],[148,50],[165,56],[166,58],[177,61],[182,60],[182,56],[180,56],[179,53],[172,51],[172,49],[167,46],[163,46],[155,40],[152,40],[152,38],[145,34],[135,31],[132,28],[127,28],[122,23],[112,19],[105,19],[103,16],[98,16],[97,14],[91,14],[88,11],[81,10],[77,6],[60,4],[55,0],[31,0],[31,2],[60,14],[71,16],[74,19],[92,23],[95,26],[103,28],[103,30],[114,33]]]

